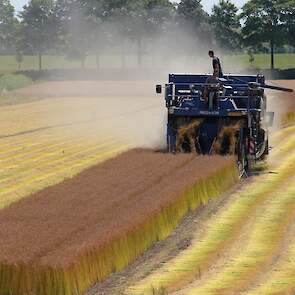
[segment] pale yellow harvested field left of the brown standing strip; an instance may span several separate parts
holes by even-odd
[[[138,92],[133,92],[128,98],[129,85],[114,91],[107,83],[92,83],[92,88],[76,83],[33,85],[18,94],[24,100],[49,99],[0,108],[0,208],[143,140],[153,141],[161,132],[161,102],[153,97],[135,100]],[[155,110],[150,113],[151,109]],[[128,132],[140,117],[157,120],[153,124],[158,126],[145,134]]]

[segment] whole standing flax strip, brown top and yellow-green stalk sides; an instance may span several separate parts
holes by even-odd
[[[132,150],[0,212],[0,294],[81,294],[237,180],[232,157]]]

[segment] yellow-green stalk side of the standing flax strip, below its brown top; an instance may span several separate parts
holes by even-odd
[[[82,294],[97,280],[121,270],[153,242],[167,237],[189,210],[217,197],[237,179],[236,165],[231,159],[213,175],[187,187],[173,202],[161,207],[155,214],[146,216],[145,221],[136,224],[132,230],[113,237],[103,245],[85,249],[74,261],[69,261],[63,267],[47,267],[43,259],[42,263],[3,262],[0,293]]]

